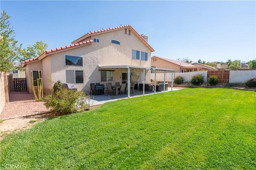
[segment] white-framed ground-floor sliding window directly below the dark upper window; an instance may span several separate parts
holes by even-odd
[[[66,83],[78,84],[84,83],[83,70],[66,70]]]

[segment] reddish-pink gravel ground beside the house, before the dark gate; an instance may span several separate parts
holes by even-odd
[[[4,105],[0,119],[49,111],[43,102],[36,102],[34,95],[28,92],[11,91],[9,99],[10,102]]]

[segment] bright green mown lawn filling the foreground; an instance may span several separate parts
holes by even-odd
[[[1,142],[1,168],[256,169],[256,93],[187,88],[52,118]]]

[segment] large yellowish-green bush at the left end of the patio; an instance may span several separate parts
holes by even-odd
[[[70,114],[75,113],[78,108],[90,109],[90,96],[82,91],[59,89],[54,92],[52,88],[50,95],[43,98],[47,109],[55,113]]]

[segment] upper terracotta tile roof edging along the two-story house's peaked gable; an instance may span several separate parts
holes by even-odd
[[[84,36],[74,40],[72,42],[73,43],[78,43],[92,35],[96,35],[96,34],[102,34],[105,32],[111,32],[111,31],[115,31],[115,30],[120,30],[120,29],[124,29],[124,28],[130,28],[136,36],[138,36],[138,38],[140,38],[140,40],[142,40],[142,42],[146,43],[146,45],[151,49],[151,52],[155,51],[148,42],[146,42],[146,40],[144,40],[144,38],[142,38],[142,36],[129,24],[129,25],[124,25],[124,26],[118,26],[118,27],[113,27],[113,28],[107,28],[107,29],[102,29],[102,30],[97,30],[97,31],[92,31],[92,32],[88,32],[87,34],[85,34]]]

